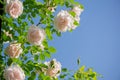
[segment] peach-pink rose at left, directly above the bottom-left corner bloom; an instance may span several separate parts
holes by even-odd
[[[22,53],[21,44],[19,43],[11,43],[6,48],[6,54],[8,54],[11,58],[18,58]]]

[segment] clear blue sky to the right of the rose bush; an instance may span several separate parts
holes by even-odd
[[[63,33],[50,41],[57,49],[53,58],[63,67],[93,67],[104,78],[120,80],[120,0],[76,0],[84,5],[81,25],[72,33]]]

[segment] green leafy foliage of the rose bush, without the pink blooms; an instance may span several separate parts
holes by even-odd
[[[43,0],[43,2],[37,0],[22,0],[24,5],[24,10],[21,16],[17,19],[13,19],[7,13],[0,16],[2,19],[1,27],[1,38],[0,38],[0,80],[4,80],[3,74],[6,66],[12,64],[18,64],[25,72],[26,79],[28,80],[58,80],[59,78],[51,78],[42,72],[42,69],[47,69],[48,67],[43,63],[46,59],[51,58],[53,53],[56,53],[56,49],[48,44],[50,40],[53,40],[53,34],[58,37],[61,36],[61,32],[54,29],[53,19],[54,14],[48,7],[64,6],[66,8],[72,8],[74,5],[83,6],[74,0]],[[4,4],[0,0],[0,3]],[[6,4],[4,4],[5,6]],[[74,12],[69,12],[73,17],[75,17]],[[43,41],[44,50],[40,46],[32,45],[27,40],[27,32],[29,26],[36,23],[35,19],[38,19],[37,26],[40,26],[45,30],[47,38]],[[74,22],[78,25],[78,22]],[[8,36],[5,32],[8,32],[11,36]],[[4,54],[4,49],[7,43],[18,42],[21,43],[23,49],[22,54],[19,58],[9,58]],[[78,61],[78,64],[80,62]],[[68,80],[96,80],[97,73],[93,72],[91,68],[84,71],[84,66],[82,66],[74,75],[70,73],[67,68],[62,68],[60,79],[65,79],[68,76]],[[74,76],[74,77],[73,77]]]

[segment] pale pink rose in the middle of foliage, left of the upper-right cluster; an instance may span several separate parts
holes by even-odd
[[[27,39],[31,44],[41,45],[42,41],[45,39],[45,31],[32,25],[28,30]]]

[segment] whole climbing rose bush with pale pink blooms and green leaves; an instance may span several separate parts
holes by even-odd
[[[0,15],[3,20],[0,80],[83,80],[86,79],[86,74],[87,79],[96,80],[97,75],[93,76],[91,71],[85,74],[84,71],[75,71],[72,74],[56,59],[45,62],[56,53],[56,49],[49,44],[50,40],[55,35],[61,36],[61,32],[72,31],[78,26],[83,10],[81,4],[74,0],[5,0],[6,4],[2,1],[0,3],[3,3],[9,14]],[[56,10],[62,6],[65,10],[56,15]],[[8,44],[10,45],[6,48]]]

